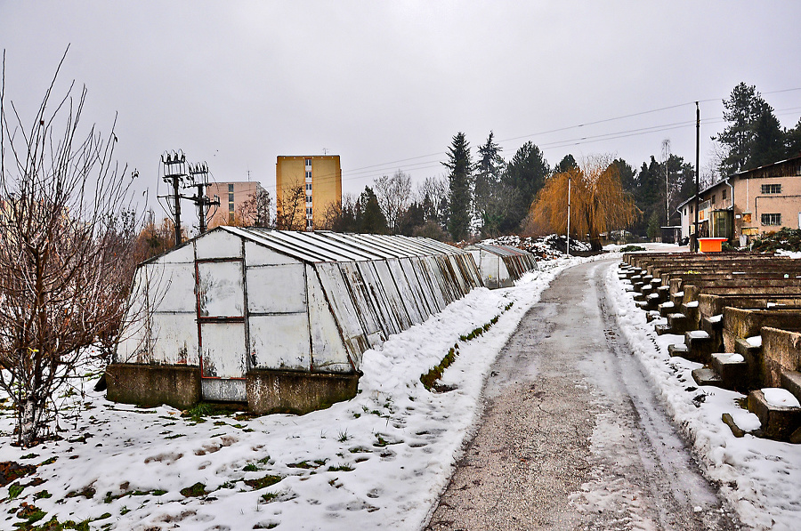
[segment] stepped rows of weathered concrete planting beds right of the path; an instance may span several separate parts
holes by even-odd
[[[762,434],[801,442],[801,409],[772,406],[764,388],[801,400],[801,261],[748,253],[624,255],[637,304],[657,334],[683,334],[673,356],[704,364],[701,385],[749,394]],[[777,413],[778,410],[781,410]]]

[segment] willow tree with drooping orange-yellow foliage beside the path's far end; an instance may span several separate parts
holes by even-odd
[[[530,232],[567,232],[569,183],[570,237],[588,235],[594,250],[601,249],[601,233],[626,229],[641,213],[623,189],[617,166],[595,157],[546,181],[529,210]]]

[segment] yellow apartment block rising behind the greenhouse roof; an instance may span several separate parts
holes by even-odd
[[[275,196],[286,229],[321,227],[331,205],[342,203],[339,155],[279,156],[275,163]],[[294,215],[289,212],[294,210]]]

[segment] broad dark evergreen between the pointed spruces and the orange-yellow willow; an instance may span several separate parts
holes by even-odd
[[[531,141],[523,144],[514,154],[512,160],[506,165],[506,172],[501,179],[508,189],[514,189],[516,196],[514,204],[503,223],[503,230],[517,229],[529,213],[534,197],[543,186],[550,173],[548,163],[542,156],[542,151]]]

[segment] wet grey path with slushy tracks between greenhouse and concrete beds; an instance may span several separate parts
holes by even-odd
[[[523,318],[428,529],[736,528],[616,333],[617,264],[563,271]]]

